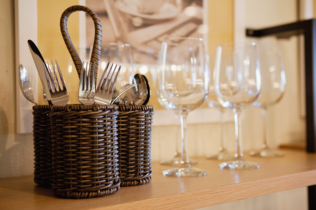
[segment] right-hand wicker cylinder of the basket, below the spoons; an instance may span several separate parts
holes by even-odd
[[[121,186],[151,180],[152,106],[119,105],[119,176]]]

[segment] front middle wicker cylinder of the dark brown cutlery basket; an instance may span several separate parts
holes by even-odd
[[[91,198],[119,190],[117,105],[52,106],[56,195]]]

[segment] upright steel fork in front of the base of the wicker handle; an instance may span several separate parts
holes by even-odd
[[[92,72],[92,85],[90,85],[90,77]],[[88,70],[88,62],[86,64],[86,69],[84,69],[84,62],[82,63],[81,73],[80,73],[80,82],[79,82],[79,102],[87,105],[94,104],[94,94],[95,94],[95,85],[94,85],[94,73],[95,73],[95,63],[92,67],[92,62],[90,62]]]

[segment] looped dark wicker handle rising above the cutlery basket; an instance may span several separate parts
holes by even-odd
[[[97,75],[98,75],[98,67],[99,67],[99,60],[100,60],[100,52],[101,52],[101,40],[102,40],[102,28],[101,23],[98,18],[98,16],[95,14],[95,12],[88,7],[80,6],[80,5],[74,5],[69,8],[67,8],[60,18],[60,30],[61,34],[63,35],[65,44],[68,48],[68,51],[71,55],[72,60],[74,61],[78,76],[80,77],[81,73],[81,67],[82,67],[82,61],[77,53],[77,50],[75,49],[74,45],[71,42],[71,39],[69,37],[68,29],[67,29],[67,20],[71,13],[76,11],[84,11],[88,13],[94,22],[94,43],[92,48],[92,54],[90,62],[95,63],[95,75],[94,80],[96,82]],[[92,76],[92,75],[91,75]]]

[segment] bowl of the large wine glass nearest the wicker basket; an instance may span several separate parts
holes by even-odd
[[[208,81],[205,84],[205,81],[200,79],[205,76],[201,75],[199,68],[207,69],[208,67],[206,63],[202,63],[201,66],[194,57],[199,50],[199,46],[195,46],[194,43],[202,41],[190,38],[190,43],[181,44],[179,41],[182,39],[170,39],[174,42],[169,44],[171,46],[168,48],[168,57],[163,66],[163,81],[159,84],[162,85],[160,98],[169,109],[176,112],[183,110],[189,112],[199,107],[207,97],[208,89],[205,85],[208,85]],[[167,42],[165,44],[167,45]]]

